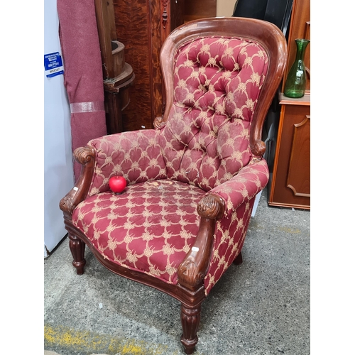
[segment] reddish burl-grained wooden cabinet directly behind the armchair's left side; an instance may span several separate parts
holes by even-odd
[[[168,34],[184,23],[184,0],[114,0],[116,35],[135,80],[122,112],[124,131],[153,128],[163,113],[160,48]]]

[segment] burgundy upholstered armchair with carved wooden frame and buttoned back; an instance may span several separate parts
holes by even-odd
[[[74,153],[82,173],[60,209],[77,274],[87,245],[110,271],[175,297],[187,354],[202,301],[242,261],[253,202],[268,182],[261,131],[285,60],[271,23],[187,23],[160,53],[166,106],[155,128],[96,138]],[[121,195],[109,189],[114,175],[126,178]]]

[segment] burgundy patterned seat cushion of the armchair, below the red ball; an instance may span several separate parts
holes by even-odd
[[[141,182],[121,195],[88,197],[73,212],[72,222],[102,256],[176,284],[178,266],[197,235],[197,204],[204,195],[184,182]]]

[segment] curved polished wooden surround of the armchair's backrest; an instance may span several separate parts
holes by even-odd
[[[260,43],[266,50],[269,60],[268,73],[259,95],[250,131],[251,151],[254,155],[261,157],[266,150],[265,143],[261,140],[263,123],[282,80],[287,58],[285,36],[273,23],[254,18],[214,17],[188,22],[170,33],[160,51],[160,66],[166,88],[166,106],[159,125],[163,126],[168,119],[168,112],[173,104],[173,60],[171,58],[174,58],[176,50],[182,43],[207,35],[250,39]]]

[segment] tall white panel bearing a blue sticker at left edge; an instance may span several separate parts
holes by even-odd
[[[60,50],[57,0],[44,1],[44,53]],[[44,57],[43,57],[44,60]],[[59,202],[74,186],[70,109],[63,75],[44,73],[44,254],[65,236]]]

